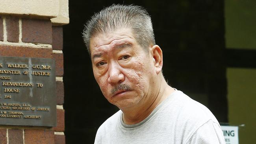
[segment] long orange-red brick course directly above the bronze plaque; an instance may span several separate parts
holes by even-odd
[[[52,49],[0,45],[0,56],[52,58]]]

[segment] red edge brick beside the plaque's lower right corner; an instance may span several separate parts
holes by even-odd
[[[63,109],[57,109],[57,126],[53,129],[54,131],[65,130],[65,111]]]

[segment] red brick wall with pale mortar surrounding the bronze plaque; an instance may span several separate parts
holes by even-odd
[[[50,19],[0,16],[0,56],[56,61],[56,127],[0,126],[0,144],[65,144],[62,26]]]

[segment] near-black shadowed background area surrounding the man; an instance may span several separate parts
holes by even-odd
[[[66,143],[93,143],[100,124],[118,111],[100,92],[81,34],[91,15],[113,3],[147,9],[168,83],[228,122],[223,0],[70,1],[63,27]]]

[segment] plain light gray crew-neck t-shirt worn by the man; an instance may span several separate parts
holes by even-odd
[[[95,144],[225,144],[215,116],[175,90],[142,122],[124,124],[122,111],[98,129]]]

